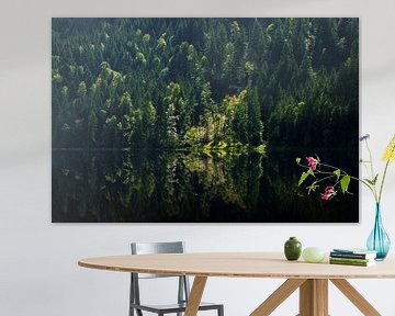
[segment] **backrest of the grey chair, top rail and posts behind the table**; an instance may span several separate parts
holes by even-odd
[[[183,241],[173,242],[132,242],[132,255],[150,255],[150,253],[183,253],[185,245]],[[131,302],[140,304],[139,282],[138,279],[154,278],[174,278],[177,275],[149,274],[149,273],[131,273]],[[185,275],[179,278],[178,302],[182,303],[189,300],[190,284]]]

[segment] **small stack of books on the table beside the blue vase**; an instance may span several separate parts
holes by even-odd
[[[366,249],[334,249],[329,255],[331,264],[369,267],[375,264],[376,251]]]

